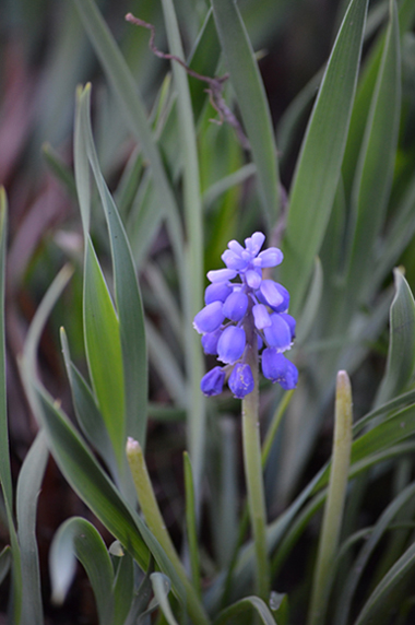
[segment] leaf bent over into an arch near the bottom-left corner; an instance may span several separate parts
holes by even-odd
[[[72,582],[74,556],[86,570],[94,590],[99,625],[110,625],[114,610],[111,561],[99,532],[80,517],[68,519],[59,528],[50,547],[49,570],[56,603],[64,601]]]

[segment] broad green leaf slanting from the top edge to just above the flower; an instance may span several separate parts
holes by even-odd
[[[280,191],[276,145],[265,90],[237,4],[233,0],[211,1],[221,47],[257,166],[265,217],[272,227],[278,216]]]

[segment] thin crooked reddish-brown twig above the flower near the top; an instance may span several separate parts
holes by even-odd
[[[229,78],[229,74],[211,78],[195,72],[194,70],[189,68],[189,66],[187,66],[185,61],[182,61],[176,55],[169,55],[167,52],[163,52],[155,46],[154,44],[155,27],[153,24],[149,24],[147,22],[144,22],[144,20],[135,17],[132,13],[127,13],[126,20],[127,22],[130,22],[135,26],[143,26],[144,28],[147,28],[151,32],[149,47],[156,57],[158,57],[159,59],[166,59],[178,62],[187,71],[189,75],[193,76],[197,80],[201,80],[208,83],[209,87],[204,91],[209,94],[209,101],[220,116],[220,119],[210,119],[209,121],[217,123],[218,126],[222,126],[224,121],[229,123],[233,128],[235,128],[236,134],[244,150],[250,150],[249,141],[244,133],[239,120],[236,118],[230,108],[226,105],[226,102],[224,101],[222,95],[224,83]]]

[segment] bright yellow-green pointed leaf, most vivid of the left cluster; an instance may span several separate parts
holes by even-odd
[[[119,322],[90,237],[85,248],[83,317],[93,389],[120,463],[123,458],[126,425]]]

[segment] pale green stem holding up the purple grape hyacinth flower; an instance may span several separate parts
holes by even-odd
[[[248,315],[245,331],[249,345],[246,362],[251,367],[254,380],[253,391],[242,400],[245,476],[257,561],[257,592],[261,599],[268,601],[270,595],[270,565],[266,550],[266,511],[259,428],[258,346],[252,315]]]

